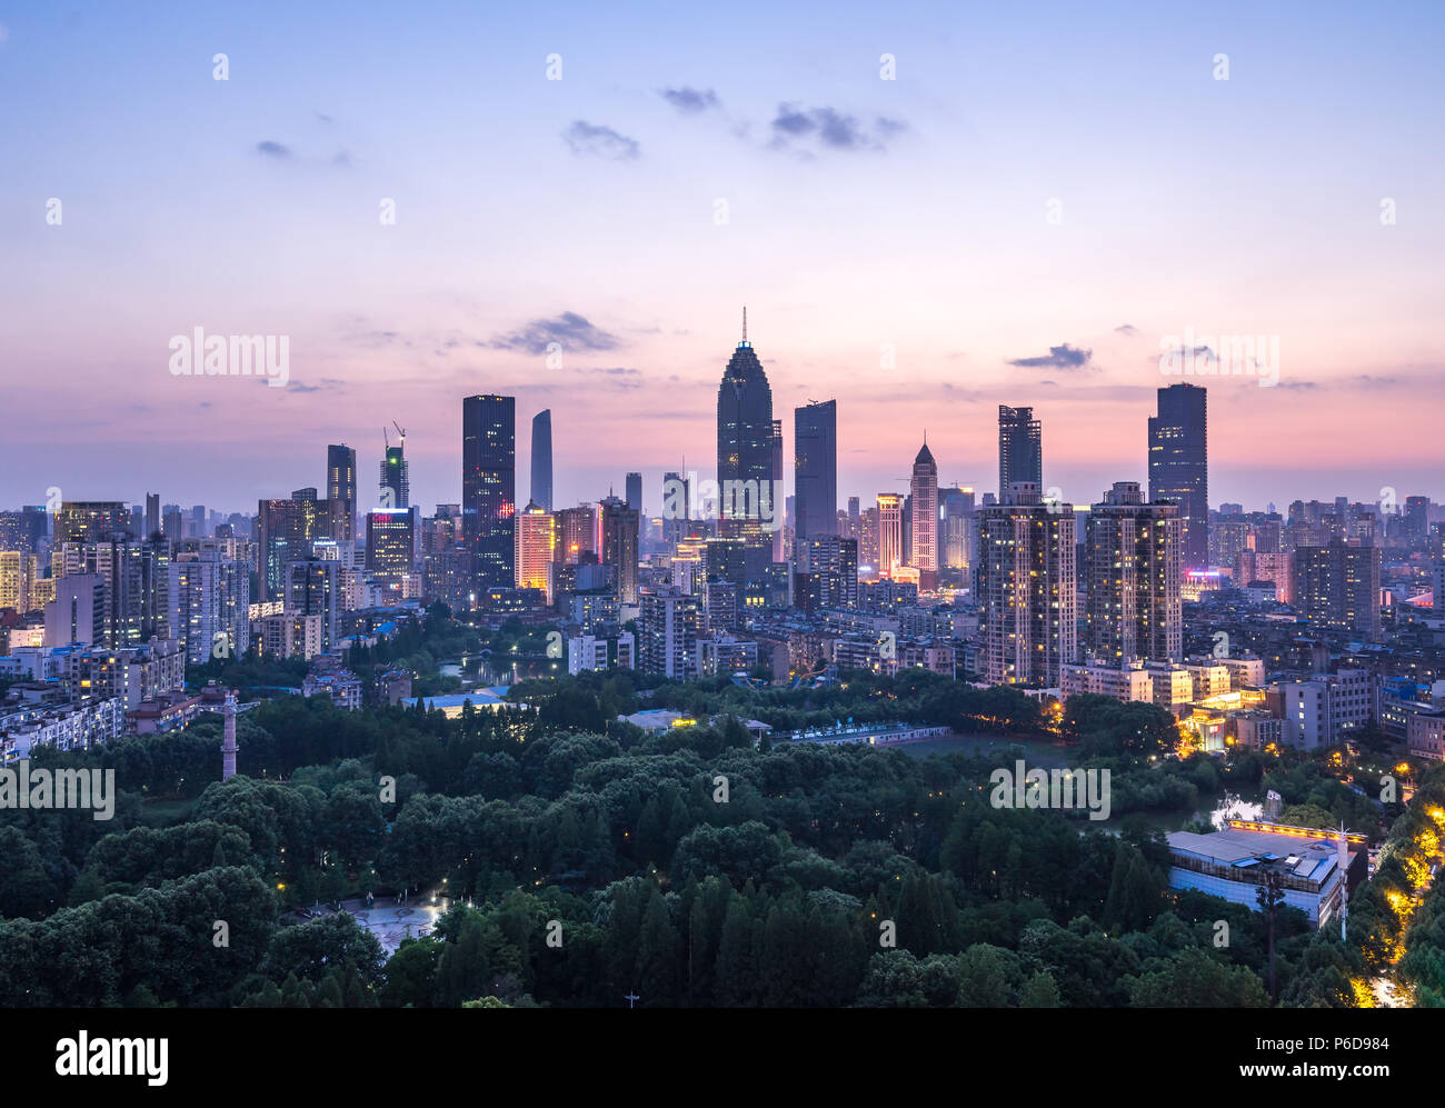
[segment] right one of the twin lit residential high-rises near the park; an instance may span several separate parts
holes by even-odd
[[[1084,532],[1090,654],[1108,663],[1181,662],[1178,504],[1146,504],[1137,482],[1117,481],[1090,510]]]

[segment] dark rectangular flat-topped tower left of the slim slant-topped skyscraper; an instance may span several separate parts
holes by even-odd
[[[474,595],[516,579],[516,397],[461,402],[461,520],[471,555]]]

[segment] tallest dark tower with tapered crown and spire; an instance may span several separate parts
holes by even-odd
[[[773,561],[770,527],[782,504],[773,503],[773,390],[747,341],[737,344],[718,386],[718,487],[722,511],[718,532],[743,540],[747,585],[760,587]],[[766,526],[764,526],[766,523]]]

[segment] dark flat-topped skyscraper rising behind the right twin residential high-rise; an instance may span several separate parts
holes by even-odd
[[[1149,498],[1178,504],[1185,569],[1209,568],[1209,413],[1196,384],[1159,390],[1149,417]]]

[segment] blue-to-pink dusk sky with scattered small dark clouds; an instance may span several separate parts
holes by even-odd
[[[328,442],[367,493],[396,420],[429,510],[461,498],[461,397],[503,393],[522,503],[548,407],[556,506],[637,469],[657,513],[663,471],[715,472],[744,305],[789,458],[792,409],[838,402],[840,506],[905,490],[925,432],[941,482],[993,491],[1000,403],[1097,501],[1147,480],[1178,380],[1209,389],[1212,504],[1445,500],[1442,30],[1438,3],[0,0],[0,506],[254,511],[324,488]],[[286,337],[288,383],[173,374],[198,326]],[[1218,337],[1277,363],[1162,373]]]

